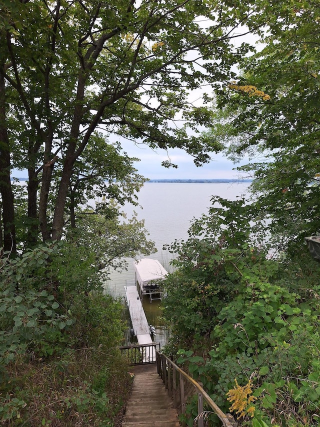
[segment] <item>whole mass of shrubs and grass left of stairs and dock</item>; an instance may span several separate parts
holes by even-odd
[[[103,295],[90,254],[70,262],[67,247],[1,258],[2,423],[112,425],[129,389],[122,304]]]

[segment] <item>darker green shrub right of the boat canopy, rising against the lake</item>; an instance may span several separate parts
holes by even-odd
[[[247,285],[252,266],[259,276],[257,261],[273,274],[273,263],[249,243],[263,241],[258,228],[263,230],[264,224],[254,208],[244,199],[230,202],[220,197],[213,197],[212,205],[209,214],[192,222],[185,242],[166,246],[177,253],[172,261],[177,271],[165,280],[164,314],[185,338],[209,333],[222,307]]]

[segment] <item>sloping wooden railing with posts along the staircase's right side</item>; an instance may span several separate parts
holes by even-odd
[[[208,411],[203,411],[203,400],[208,404],[208,410],[210,412],[214,412],[225,427],[234,427],[234,425],[236,425],[233,417],[229,414],[226,415],[223,413],[193,378],[187,375],[182,369],[173,363],[172,360],[159,351],[156,351],[156,365],[157,372],[161,376],[165,388],[168,390],[169,396],[173,399],[173,405],[178,412],[182,414],[185,413],[186,398],[188,394],[190,394],[187,391],[191,388],[191,394],[193,395],[194,392],[196,392],[198,396],[198,410],[195,418],[198,427],[203,427],[205,414],[208,414]]]

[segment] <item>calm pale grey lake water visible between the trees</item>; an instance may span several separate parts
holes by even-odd
[[[186,239],[190,221],[207,213],[212,195],[235,200],[247,193],[248,186],[248,183],[147,182],[139,192],[138,202],[141,207],[126,205],[123,210],[128,215],[136,211],[138,218],[145,220],[149,238],[155,242],[158,250],[149,257],[158,259],[170,270],[172,255],[162,250],[163,244],[171,243],[174,239]],[[133,259],[128,259],[127,271],[111,271],[106,285],[112,294],[124,295],[123,286],[134,283]]]

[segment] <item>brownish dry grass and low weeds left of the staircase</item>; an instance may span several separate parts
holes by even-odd
[[[89,350],[69,351],[45,363],[10,364],[10,383],[1,385],[2,423],[114,425],[131,378],[119,354],[108,355],[112,363],[101,353],[99,362],[91,355]]]

